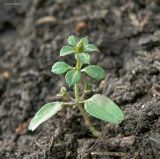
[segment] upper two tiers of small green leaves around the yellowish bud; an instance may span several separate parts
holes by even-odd
[[[84,64],[90,64],[91,52],[99,52],[99,49],[95,45],[89,43],[87,37],[78,40],[76,36],[71,35],[68,38],[68,44],[69,45],[62,47],[60,50],[60,56],[74,54],[76,60],[80,61],[80,69],[77,70],[75,67],[72,67],[65,62],[56,62],[52,66],[51,72],[55,74],[63,74],[67,72],[65,79],[69,87],[80,81],[82,72],[85,72],[88,76],[97,80],[101,80],[105,77],[105,71],[98,65],[89,65],[82,68]]]

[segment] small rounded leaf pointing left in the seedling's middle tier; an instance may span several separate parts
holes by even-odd
[[[70,70],[72,67],[69,66],[68,64],[66,64],[65,62],[56,62],[53,66],[52,66],[52,70],[51,72],[55,73],[55,74],[62,74],[67,72],[68,70]]]

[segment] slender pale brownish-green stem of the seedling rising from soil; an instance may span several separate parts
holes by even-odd
[[[81,69],[81,62],[80,62],[79,54],[77,54],[76,70],[80,71],[80,69]],[[81,114],[83,115],[86,125],[89,127],[90,131],[92,132],[92,134],[94,136],[99,137],[100,136],[100,132],[98,132],[95,129],[95,127],[92,125],[88,114],[86,113],[86,111],[83,108],[83,105],[81,103],[79,103],[80,100],[81,100],[80,99],[80,95],[79,95],[79,82],[75,84],[74,91],[75,91],[75,99],[77,101],[78,109],[81,112]]]

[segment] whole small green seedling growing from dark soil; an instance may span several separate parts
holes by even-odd
[[[86,99],[89,92],[94,92],[92,84],[84,79],[87,75],[91,79],[102,80],[106,74],[102,67],[90,64],[90,53],[99,52],[99,49],[90,44],[87,37],[78,38],[74,35],[69,36],[68,45],[62,47],[60,56],[74,55],[76,60],[75,67],[65,62],[56,62],[51,69],[52,73],[64,74],[66,83],[69,88],[74,86],[74,98],[68,95],[65,87],[62,87],[58,96],[62,101],[47,103],[33,117],[29,124],[29,130],[34,131],[40,124],[54,116],[61,109],[69,106],[77,107],[84,117],[85,123],[96,137],[100,136],[95,127],[92,125],[89,114],[95,118],[101,119],[113,124],[119,124],[124,119],[121,109],[108,97],[95,94],[91,98]],[[83,91],[81,91],[83,90]]]

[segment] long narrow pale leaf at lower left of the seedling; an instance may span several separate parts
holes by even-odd
[[[28,129],[34,131],[40,124],[47,121],[53,115],[55,115],[59,110],[62,109],[62,102],[52,102],[45,104],[38,112],[35,114],[31,120]]]

